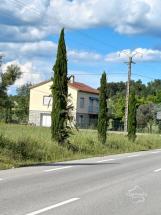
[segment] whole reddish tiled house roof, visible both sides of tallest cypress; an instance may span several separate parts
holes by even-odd
[[[43,84],[47,84],[51,82],[51,80],[48,80],[48,81],[43,81],[41,83],[38,83],[38,84],[35,84],[33,86],[30,87],[30,89],[33,89],[35,87],[39,87]],[[82,92],[87,92],[87,93],[93,93],[93,94],[99,94],[99,91],[86,85],[86,84],[83,84],[83,83],[80,83],[80,82],[73,82],[73,83],[68,83],[68,85],[74,89],[77,89],[77,90],[80,90]]]

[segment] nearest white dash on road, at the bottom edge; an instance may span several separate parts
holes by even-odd
[[[38,210],[38,211],[34,211],[34,212],[31,212],[31,213],[28,213],[28,214],[26,214],[26,215],[37,215],[37,214],[41,214],[41,213],[43,213],[43,212],[52,210],[52,209],[54,209],[54,208],[58,208],[58,207],[60,207],[60,206],[62,206],[62,205],[66,205],[66,204],[75,202],[75,201],[77,201],[77,200],[79,200],[79,199],[80,199],[80,198],[72,198],[72,199],[66,200],[66,201],[64,201],[64,202],[60,202],[60,203],[58,203],[58,204],[51,205],[51,206],[49,206],[49,207],[40,209],[40,210]]]

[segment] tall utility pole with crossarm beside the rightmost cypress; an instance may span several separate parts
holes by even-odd
[[[128,113],[129,113],[129,96],[130,96],[130,84],[131,84],[131,69],[132,69],[132,64],[136,64],[133,61],[133,58],[141,54],[139,52],[133,53],[128,53],[128,52],[123,52],[128,57],[128,62],[125,62],[128,65],[128,81],[127,81],[127,86],[126,86],[126,102],[125,102],[125,120],[124,120],[124,132],[128,131]],[[141,54],[142,55],[142,54]]]

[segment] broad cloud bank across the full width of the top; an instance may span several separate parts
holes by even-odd
[[[37,41],[62,27],[161,35],[160,0],[2,0],[0,41]]]

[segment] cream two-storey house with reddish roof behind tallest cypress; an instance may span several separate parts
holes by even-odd
[[[29,123],[51,126],[52,81],[44,81],[30,88]],[[81,128],[96,127],[99,108],[98,90],[79,82],[74,76],[68,83],[68,93],[73,105],[73,119]]]

